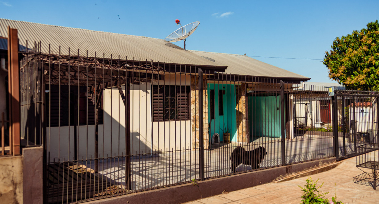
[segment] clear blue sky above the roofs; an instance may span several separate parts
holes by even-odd
[[[0,0],[0,18],[164,39],[200,21],[188,50],[245,54],[332,82],[321,60],[335,37],[379,19],[379,1],[24,1]],[[118,17],[117,17],[118,15]],[[183,47],[183,42],[175,44]],[[261,58],[279,57],[279,58]],[[280,59],[280,58],[306,58]]]

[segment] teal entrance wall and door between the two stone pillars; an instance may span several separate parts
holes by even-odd
[[[234,84],[208,84],[208,133],[218,133],[220,142],[224,141],[223,133],[230,131],[230,141],[235,141],[236,133],[236,102]]]

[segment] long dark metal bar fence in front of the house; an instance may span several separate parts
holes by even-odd
[[[378,139],[377,93],[41,50],[20,51],[21,127],[28,146],[45,146],[48,203],[345,158]],[[348,125],[356,114],[363,126]]]

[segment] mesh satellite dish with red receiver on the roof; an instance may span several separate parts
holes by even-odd
[[[185,26],[182,26],[180,24],[180,21],[178,19],[175,20],[176,25],[180,25],[181,28],[178,30],[175,30],[171,34],[169,34],[165,39],[164,42],[177,42],[180,40],[184,40],[184,49],[186,49],[186,38],[190,36],[197,28],[197,26],[200,24],[199,21],[189,23]]]

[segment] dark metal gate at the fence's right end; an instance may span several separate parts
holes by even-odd
[[[357,146],[379,143],[377,92],[336,91],[334,95],[333,124],[336,136],[336,157],[362,154]]]

